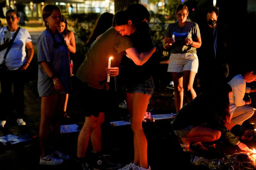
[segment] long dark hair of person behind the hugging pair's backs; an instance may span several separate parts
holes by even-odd
[[[113,16],[113,14],[108,12],[104,12],[100,15],[85,45],[90,46],[100,34],[104,33],[112,26]]]

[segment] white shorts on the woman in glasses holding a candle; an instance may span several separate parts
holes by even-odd
[[[194,71],[197,73],[198,70],[198,57],[196,54],[171,54],[168,72],[182,73],[185,70]]]

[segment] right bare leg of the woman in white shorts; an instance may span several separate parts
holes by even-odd
[[[196,77],[196,72],[194,71],[183,71],[183,88],[184,93],[187,96],[188,102],[196,97],[196,91],[193,88],[193,83]]]

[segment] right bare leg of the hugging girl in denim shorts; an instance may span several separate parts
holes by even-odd
[[[148,143],[142,128],[142,120],[148,108],[149,95],[134,93],[132,96],[132,131],[137,144],[140,166],[148,168]]]

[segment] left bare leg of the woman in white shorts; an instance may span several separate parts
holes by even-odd
[[[172,79],[174,83],[174,100],[176,112],[180,111],[183,106],[183,77],[182,73],[172,72]]]

